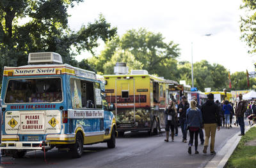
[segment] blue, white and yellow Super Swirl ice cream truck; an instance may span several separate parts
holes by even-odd
[[[27,150],[68,148],[77,158],[85,144],[115,148],[103,76],[63,64],[54,52],[29,53],[28,64],[4,67],[1,149],[23,157]]]

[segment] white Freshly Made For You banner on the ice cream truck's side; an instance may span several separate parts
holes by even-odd
[[[104,118],[104,110],[68,109],[68,118]]]

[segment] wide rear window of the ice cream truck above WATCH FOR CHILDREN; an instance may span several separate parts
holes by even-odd
[[[61,102],[61,78],[10,80],[4,102]]]

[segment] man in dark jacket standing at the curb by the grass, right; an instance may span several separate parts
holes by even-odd
[[[235,112],[241,130],[241,134],[239,134],[239,136],[244,136],[244,113],[247,109],[247,102],[243,100],[242,94],[239,94],[238,97],[239,101],[236,102]]]

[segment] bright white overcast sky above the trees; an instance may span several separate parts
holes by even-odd
[[[207,60],[225,66],[231,73],[254,71],[255,57],[247,53],[246,44],[239,39],[241,3],[242,0],[84,0],[68,10],[68,24],[77,31],[102,13],[107,22],[117,27],[119,36],[140,27],[161,32],[165,42],[179,44],[179,60],[191,62],[193,55],[194,63]],[[76,59],[84,57],[90,55],[85,53]]]

